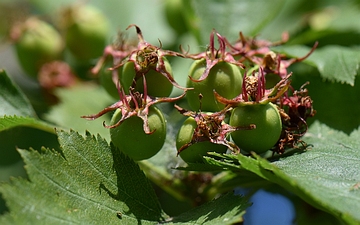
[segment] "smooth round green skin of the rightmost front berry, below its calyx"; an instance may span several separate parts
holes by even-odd
[[[241,105],[230,116],[231,126],[255,124],[256,129],[238,130],[231,137],[240,149],[263,153],[272,148],[280,138],[282,123],[278,109],[272,103]]]

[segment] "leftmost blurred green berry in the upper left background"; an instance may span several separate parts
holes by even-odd
[[[14,27],[12,35],[19,63],[31,77],[38,76],[42,65],[61,57],[64,47],[61,35],[45,21],[29,18]]]

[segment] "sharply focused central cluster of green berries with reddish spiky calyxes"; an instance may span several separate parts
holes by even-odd
[[[203,162],[208,152],[282,154],[304,143],[306,119],[315,115],[303,87],[295,91],[288,67],[305,59],[287,58],[271,51],[279,43],[240,38],[231,44],[212,31],[205,52],[189,54],[164,50],[146,42],[140,28],[136,44],[119,35],[107,46],[93,72],[104,88],[120,99],[101,112],[83,116],[96,119],[115,111],[110,129],[112,143],[134,160],[157,154],[166,138],[166,120],[155,105],[186,98],[189,109],[174,107],[187,117],[177,138],[177,154],[187,163]],[[218,48],[215,48],[215,37]],[[286,42],[286,37],[282,42]],[[174,79],[167,57],[193,59],[186,87]],[[277,81],[269,87],[267,78]],[[169,97],[173,87],[183,91]]]

